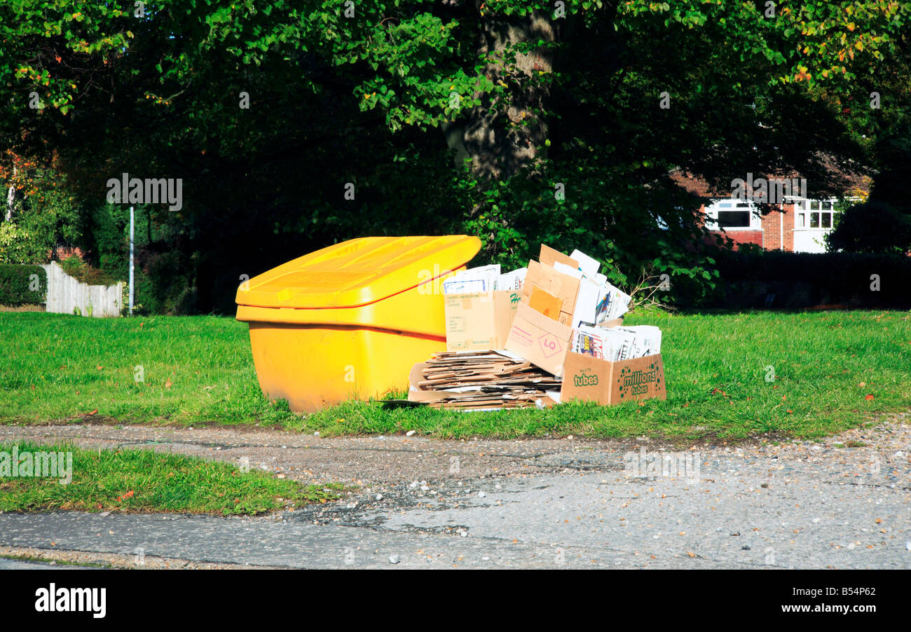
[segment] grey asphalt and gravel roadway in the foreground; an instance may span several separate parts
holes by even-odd
[[[781,445],[0,426],[0,441],[150,447],[357,486],[253,518],[7,513],[0,555],[149,568],[911,568],[909,421]]]

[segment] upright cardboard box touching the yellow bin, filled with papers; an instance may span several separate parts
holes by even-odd
[[[520,298],[508,290],[446,294],[446,351],[505,349]]]

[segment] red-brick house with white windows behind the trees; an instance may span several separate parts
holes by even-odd
[[[750,243],[763,250],[825,252],[825,236],[834,229],[840,212],[838,199],[808,197],[805,180],[801,187],[796,185],[800,182],[797,178],[790,181],[760,178],[755,181],[763,183],[762,195],[754,195],[757,189],[748,187],[747,195],[735,196],[733,191],[725,195],[711,190],[701,178],[690,174],[675,171],[670,176],[701,198],[704,225],[712,233],[733,240],[735,249],[740,244]],[[748,174],[748,181],[751,176]],[[783,182],[787,186],[772,186]],[[791,182],[795,186],[792,187]],[[864,188],[855,188],[844,199],[860,201],[865,193]],[[764,209],[758,203],[761,201],[766,202]]]

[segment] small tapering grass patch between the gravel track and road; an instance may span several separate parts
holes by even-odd
[[[11,453],[14,443],[0,443]],[[72,481],[0,476],[0,511],[176,512],[256,515],[339,497],[339,484],[304,485],[237,466],[151,450],[82,450],[15,443],[24,452],[73,453]]]

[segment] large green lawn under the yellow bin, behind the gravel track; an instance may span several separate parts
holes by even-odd
[[[0,420],[258,423],[322,435],[736,439],[818,437],[911,408],[908,312],[658,313],[628,322],[663,331],[665,402],[508,413],[349,402],[301,416],[262,396],[247,327],[231,318],[0,313]]]

